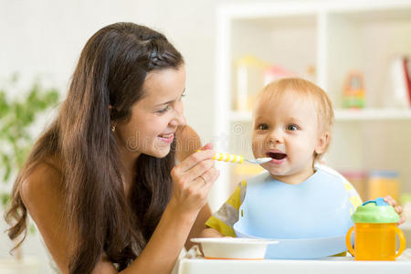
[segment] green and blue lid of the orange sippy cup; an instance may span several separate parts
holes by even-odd
[[[398,222],[399,216],[394,207],[380,197],[358,206],[351,219],[354,223],[388,224]]]

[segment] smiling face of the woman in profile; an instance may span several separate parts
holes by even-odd
[[[185,68],[164,68],[148,73],[143,97],[132,106],[130,121],[117,124],[117,142],[129,153],[163,158],[170,152],[177,127],[184,125],[182,96]]]

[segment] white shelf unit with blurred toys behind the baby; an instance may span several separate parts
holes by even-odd
[[[221,5],[216,16],[216,151],[251,156],[249,111],[235,111],[234,61],[252,54],[298,74],[314,65],[316,83],[335,109],[326,159],[336,169],[395,169],[411,191],[411,111],[384,107],[388,61],[411,56],[411,1],[319,1]],[[342,84],[364,74],[365,109],[343,110]],[[242,135],[241,135],[242,134]],[[241,135],[241,136],[240,136]],[[241,139],[238,147],[238,139]],[[230,167],[217,163],[212,207],[233,187]]]

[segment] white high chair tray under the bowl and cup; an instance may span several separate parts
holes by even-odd
[[[271,274],[271,273],[333,273],[333,274],[409,274],[411,273],[411,248],[396,261],[355,261],[353,257],[321,259],[205,259],[183,258],[178,274]]]

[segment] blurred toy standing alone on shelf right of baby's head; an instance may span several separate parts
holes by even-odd
[[[348,109],[364,108],[364,77],[361,72],[352,71],[345,79],[342,106]]]

